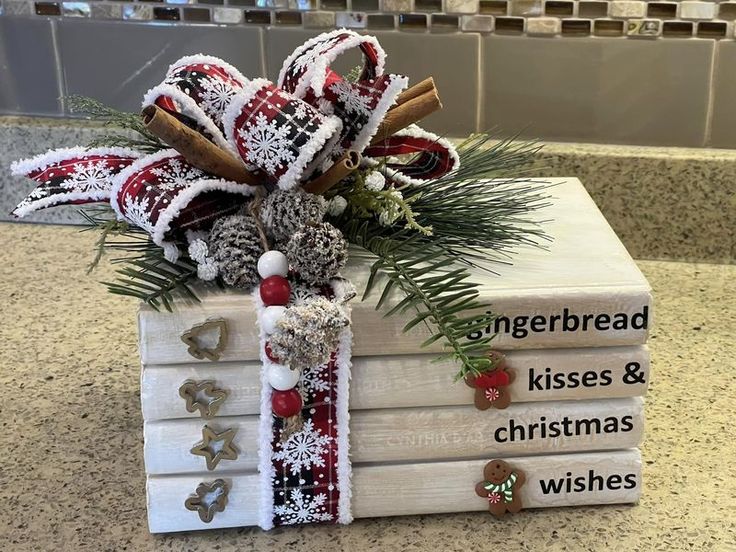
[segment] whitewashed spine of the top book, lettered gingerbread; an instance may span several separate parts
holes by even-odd
[[[501,350],[641,345],[651,325],[651,293],[643,287],[593,288],[575,292],[529,290],[484,295],[497,321],[469,337],[495,335]],[[227,322],[227,343],[220,360],[257,360],[258,332],[250,298],[219,298],[175,313],[141,309],[139,342],[144,364],[197,361],[181,340],[184,332],[206,320]],[[384,317],[370,301],[357,302],[352,316],[353,356],[416,354],[431,331],[419,324],[404,333],[402,316]],[[202,337],[202,339],[205,339]],[[441,340],[422,352],[439,352]]]

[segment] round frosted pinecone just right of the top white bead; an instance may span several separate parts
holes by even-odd
[[[329,222],[304,226],[286,246],[289,265],[310,284],[322,284],[338,275],[348,260],[342,232]]]

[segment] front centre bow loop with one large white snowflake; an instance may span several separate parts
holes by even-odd
[[[249,82],[230,102],[223,127],[250,170],[283,190],[321,168],[334,151],[342,123],[274,86]]]

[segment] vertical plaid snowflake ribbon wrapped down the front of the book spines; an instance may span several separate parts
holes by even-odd
[[[346,287],[333,281],[328,289],[294,284],[292,303],[309,296],[341,297]],[[259,290],[253,293],[260,323],[265,309]],[[348,310],[347,306],[343,307]],[[302,427],[284,438],[288,425],[271,409],[272,389],[267,373],[272,361],[265,353],[267,335],[261,331],[261,412],[259,428],[259,472],[261,514],[259,525],[330,522],[350,523],[350,478],[348,456],[348,383],[352,333],[343,330],[337,351],[330,361],[302,371],[299,392],[303,397]]]

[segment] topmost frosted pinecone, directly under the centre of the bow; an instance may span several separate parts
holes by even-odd
[[[305,224],[322,222],[326,212],[327,201],[322,196],[303,190],[276,190],[263,200],[261,221],[269,237],[283,241]]]

